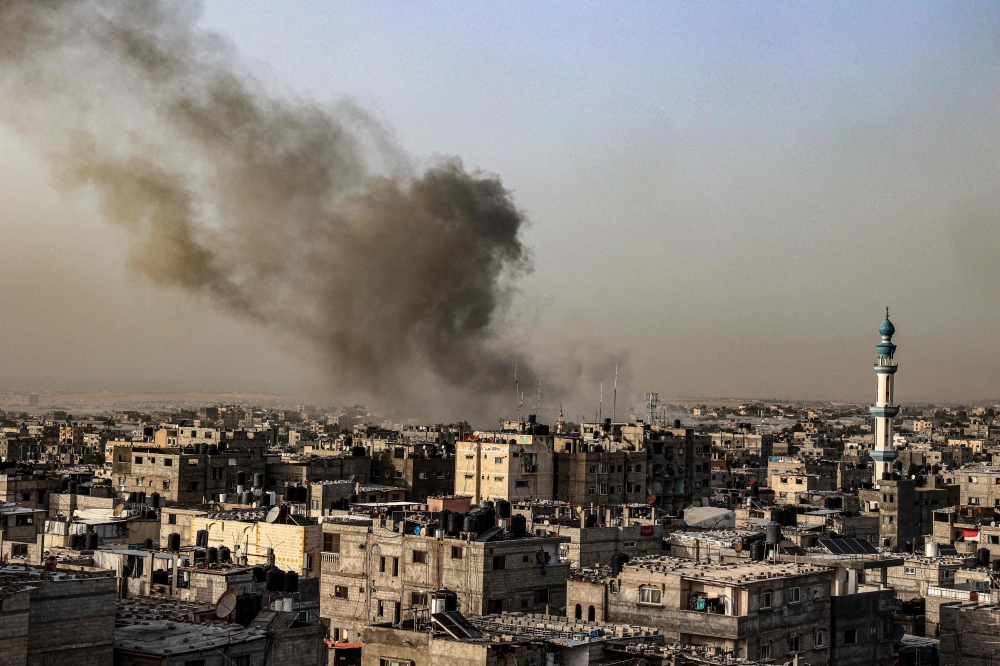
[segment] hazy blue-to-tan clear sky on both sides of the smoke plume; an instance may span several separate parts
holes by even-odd
[[[526,353],[627,354],[630,397],[865,400],[888,305],[902,401],[1000,396],[995,3],[240,0],[201,24],[418,162],[500,174],[531,224]],[[0,388],[323,385],[136,276],[5,131],[0,169]]]

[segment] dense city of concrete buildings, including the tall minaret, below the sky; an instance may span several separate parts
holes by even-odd
[[[474,429],[8,395],[5,663],[983,663],[1000,420],[897,405],[894,333],[870,406]]]

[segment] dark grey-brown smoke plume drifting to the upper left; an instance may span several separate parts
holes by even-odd
[[[334,388],[427,405],[508,384],[530,262],[500,179],[414,174],[368,114],[273,92],[199,14],[0,0],[4,121],[134,232],[138,271],[287,335]]]

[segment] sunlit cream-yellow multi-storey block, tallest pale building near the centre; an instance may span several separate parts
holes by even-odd
[[[455,494],[510,501],[552,499],[553,440],[530,415],[523,423],[477,431],[455,444]]]

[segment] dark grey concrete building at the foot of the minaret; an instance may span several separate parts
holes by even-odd
[[[862,513],[879,519],[880,545],[917,551],[933,533],[934,511],[958,503],[959,486],[917,486],[913,479],[883,479],[877,489],[858,492]]]

